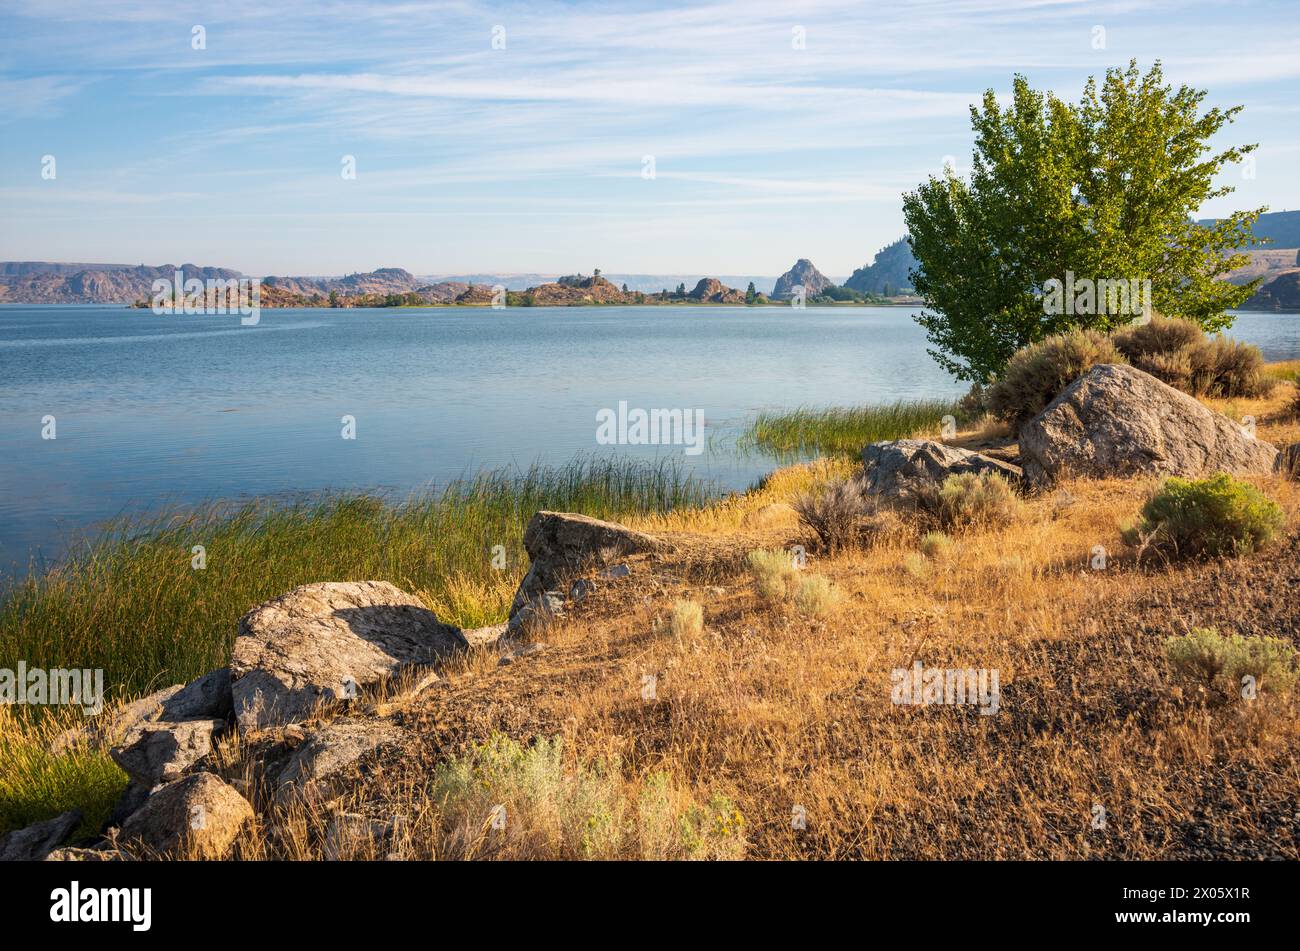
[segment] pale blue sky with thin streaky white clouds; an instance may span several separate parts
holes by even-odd
[[[1295,0],[6,0],[0,259],[846,275],[985,88],[1130,57],[1247,107],[1254,177],[1208,214],[1294,209],[1297,51]]]

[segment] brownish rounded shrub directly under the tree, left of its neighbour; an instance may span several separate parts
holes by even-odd
[[[1105,334],[1072,330],[1018,349],[988,390],[993,416],[1022,426],[1097,364],[1127,362]]]

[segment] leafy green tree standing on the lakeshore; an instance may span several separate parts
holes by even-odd
[[[1227,195],[1214,178],[1256,146],[1209,144],[1242,107],[1201,112],[1205,92],[1165,84],[1160,62],[1089,78],[1078,104],[1013,83],[971,107],[970,181],[952,168],[904,196],[916,292],[931,353],[959,379],[984,382],[1027,343],[1076,326],[1109,330],[1134,318],[1100,301],[1044,307],[1048,282],[1150,282],[1149,305],[1206,330],[1256,285],[1222,277],[1245,262],[1264,208],[1201,226],[1192,214]],[[1132,285],[1131,285],[1132,286]],[[1147,296],[1147,295],[1144,295]],[[1122,308],[1121,308],[1122,309]],[[1049,312],[1050,311],[1050,312]],[[1082,312],[1080,312],[1082,311]]]

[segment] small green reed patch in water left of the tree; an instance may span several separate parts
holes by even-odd
[[[781,455],[818,452],[855,456],[883,439],[939,435],[945,416],[958,416],[952,400],[898,400],[876,407],[812,409],[801,407],[759,413],[741,434],[744,450]]]

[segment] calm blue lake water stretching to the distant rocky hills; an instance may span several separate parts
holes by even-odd
[[[907,308],[263,311],[0,305],[0,570],[113,516],[322,490],[404,495],[478,468],[671,456],[720,488],[760,409],[956,396]],[[1232,335],[1300,357],[1300,317]],[[606,446],[598,413],[702,411],[707,447]],[[43,438],[53,417],[53,439]],[[355,438],[344,439],[343,417]],[[689,418],[689,417],[688,417]]]

